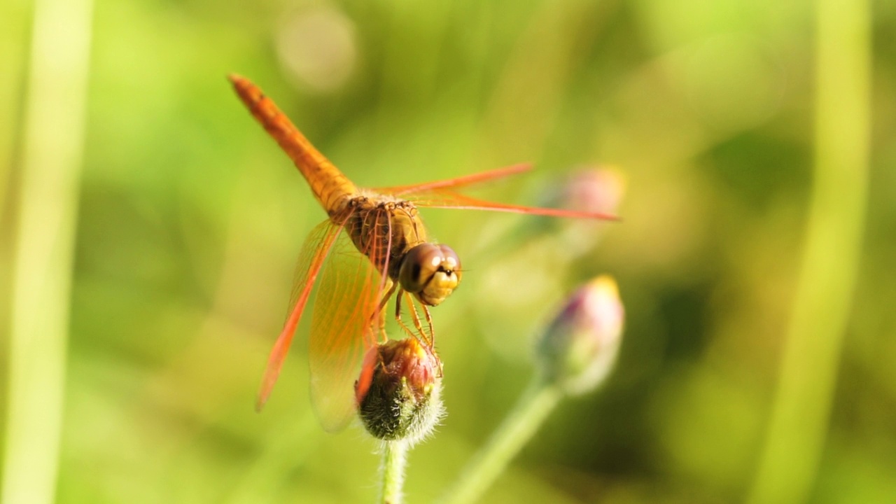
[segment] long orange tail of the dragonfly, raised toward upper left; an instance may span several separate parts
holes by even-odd
[[[252,115],[280,143],[280,148],[289,155],[289,159],[296,163],[311,186],[314,197],[327,213],[336,213],[347,196],[358,194],[358,187],[308,142],[289,117],[277,108],[273,100],[264,96],[258,86],[237,74],[228,75],[228,79]]]

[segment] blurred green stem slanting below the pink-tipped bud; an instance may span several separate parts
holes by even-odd
[[[536,380],[441,502],[467,504],[478,500],[513,456],[529,442],[561,398],[563,393],[558,388]]]

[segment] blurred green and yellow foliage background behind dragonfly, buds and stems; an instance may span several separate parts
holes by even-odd
[[[0,319],[30,8],[0,7]],[[874,8],[869,223],[814,502],[896,495],[896,9]],[[467,273],[434,310],[448,416],[410,454],[409,501],[433,500],[458,474],[525,387],[534,335],[604,272],[628,315],[615,375],[564,404],[487,501],[743,498],[806,223],[810,4],[94,9],[60,502],[375,499],[376,444],[358,427],[317,425],[301,336],[254,413],[295,256],[324,214],[230,72],[261,85],[358,185],[532,161],[483,194],[538,204],[582,166],[625,177],[623,221],[575,231],[595,239],[574,255],[569,223],[531,233],[538,220],[424,211]]]

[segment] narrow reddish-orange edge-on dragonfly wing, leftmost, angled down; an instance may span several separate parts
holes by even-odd
[[[320,273],[323,263],[327,256],[330,256],[333,243],[336,237],[340,235],[342,226],[338,226],[329,220],[318,224],[314,230],[308,235],[305,244],[302,245],[302,251],[298,256],[296,265],[296,277],[293,282],[293,294],[289,303],[291,310],[287,317],[283,330],[280,331],[280,337],[271,350],[271,356],[268,358],[267,368],[264,369],[264,377],[262,378],[262,387],[258,391],[258,398],[255,403],[255,409],[261,411],[264,403],[267,402],[271,395],[271,389],[277,378],[280,376],[280,369],[283,367],[283,361],[289,352],[289,345],[292,338],[296,334],[296,326],[299,319],[305,312],[308,297],[311,295],[311,289],[314,287],[314,281],[317,274]]]

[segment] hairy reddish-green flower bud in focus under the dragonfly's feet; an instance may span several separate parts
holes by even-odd
[[[367,352],[355,392],[371,435],[416,443],[444,414],[442,361],[416,338],[389,340]]]

